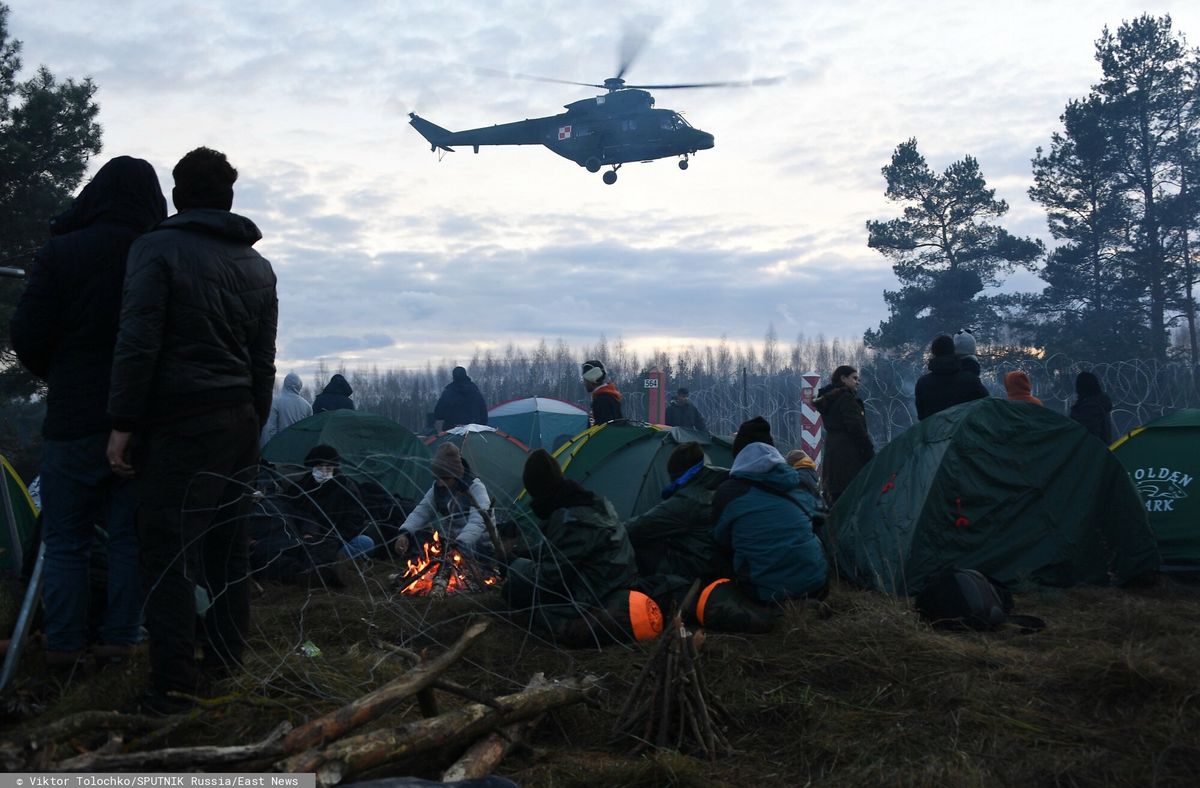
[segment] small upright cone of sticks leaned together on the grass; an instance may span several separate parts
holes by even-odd
[[[704,632],[692,633],[683,625],[682,610],[692,604],[698,590],[696,582],[617,715],[614,739],[637,740],[630,754],[672,745],[702,752],[709,760],[733,752],[724,733],[730,715],[708,688],[700,663]]]

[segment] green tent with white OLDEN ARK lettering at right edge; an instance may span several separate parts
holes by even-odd
[[[1200,409],[1156,419],[1112,444],[1141,493],[1163,571],[1200,571]]]

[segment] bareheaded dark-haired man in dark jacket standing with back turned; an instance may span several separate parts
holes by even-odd
[[[275,272],[252,245],[254,224],[229,211],[238,172],[198,148],[173,170],[179,211],[130,249],[113,356],[108,459],[138,474],[138,536],[150,633],[150,712],[182,711],[169,692],[203,667],[235,667],[250,619],[246,517],[258,435],[275,385]],[[137,445],[134,446],[134,440]]]

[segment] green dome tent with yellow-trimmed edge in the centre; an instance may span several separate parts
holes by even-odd
[[[724,438],[617,421],[580,433],[554,457],[565,477],[604,495],[622,519],[629,519],[662,500],[662,488],[671,482],[667,458],[676,446],[691,440],[703,447],[709,463],[721,468],[733,463],[733,447]]]

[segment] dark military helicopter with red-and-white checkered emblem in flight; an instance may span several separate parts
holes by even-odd
[[[637,47],[640,49],[640,47]],[[593,98],[564,104],[565,113],[532,118],[511,124],[452,132],[442,128],[416,113],[409,113],[409,125],[430,143],[431,151],[454,152],[455,145],[470,146],[478,154],[481,145],[545,145],[563,158],[569,158],[589,173],[602,175],[604,182],[617,182],[617,170],[629,162],[652,162],[680,156],[679,169],[688,169],[689,158],[697,151],[713,148],[714,138],[684,120],[672,109],[655,109],[650,90],[682,90],[692,88],[749,88],[778,82],[778,78],[743,82],[709,82],[670,85],[630,85],[625,83],[636,49],[624,58],[616,77],[602,83],[570,82],[548,77],[512,74],[521,79],[553,82],[584,88],[602,88],[607,92]]]

